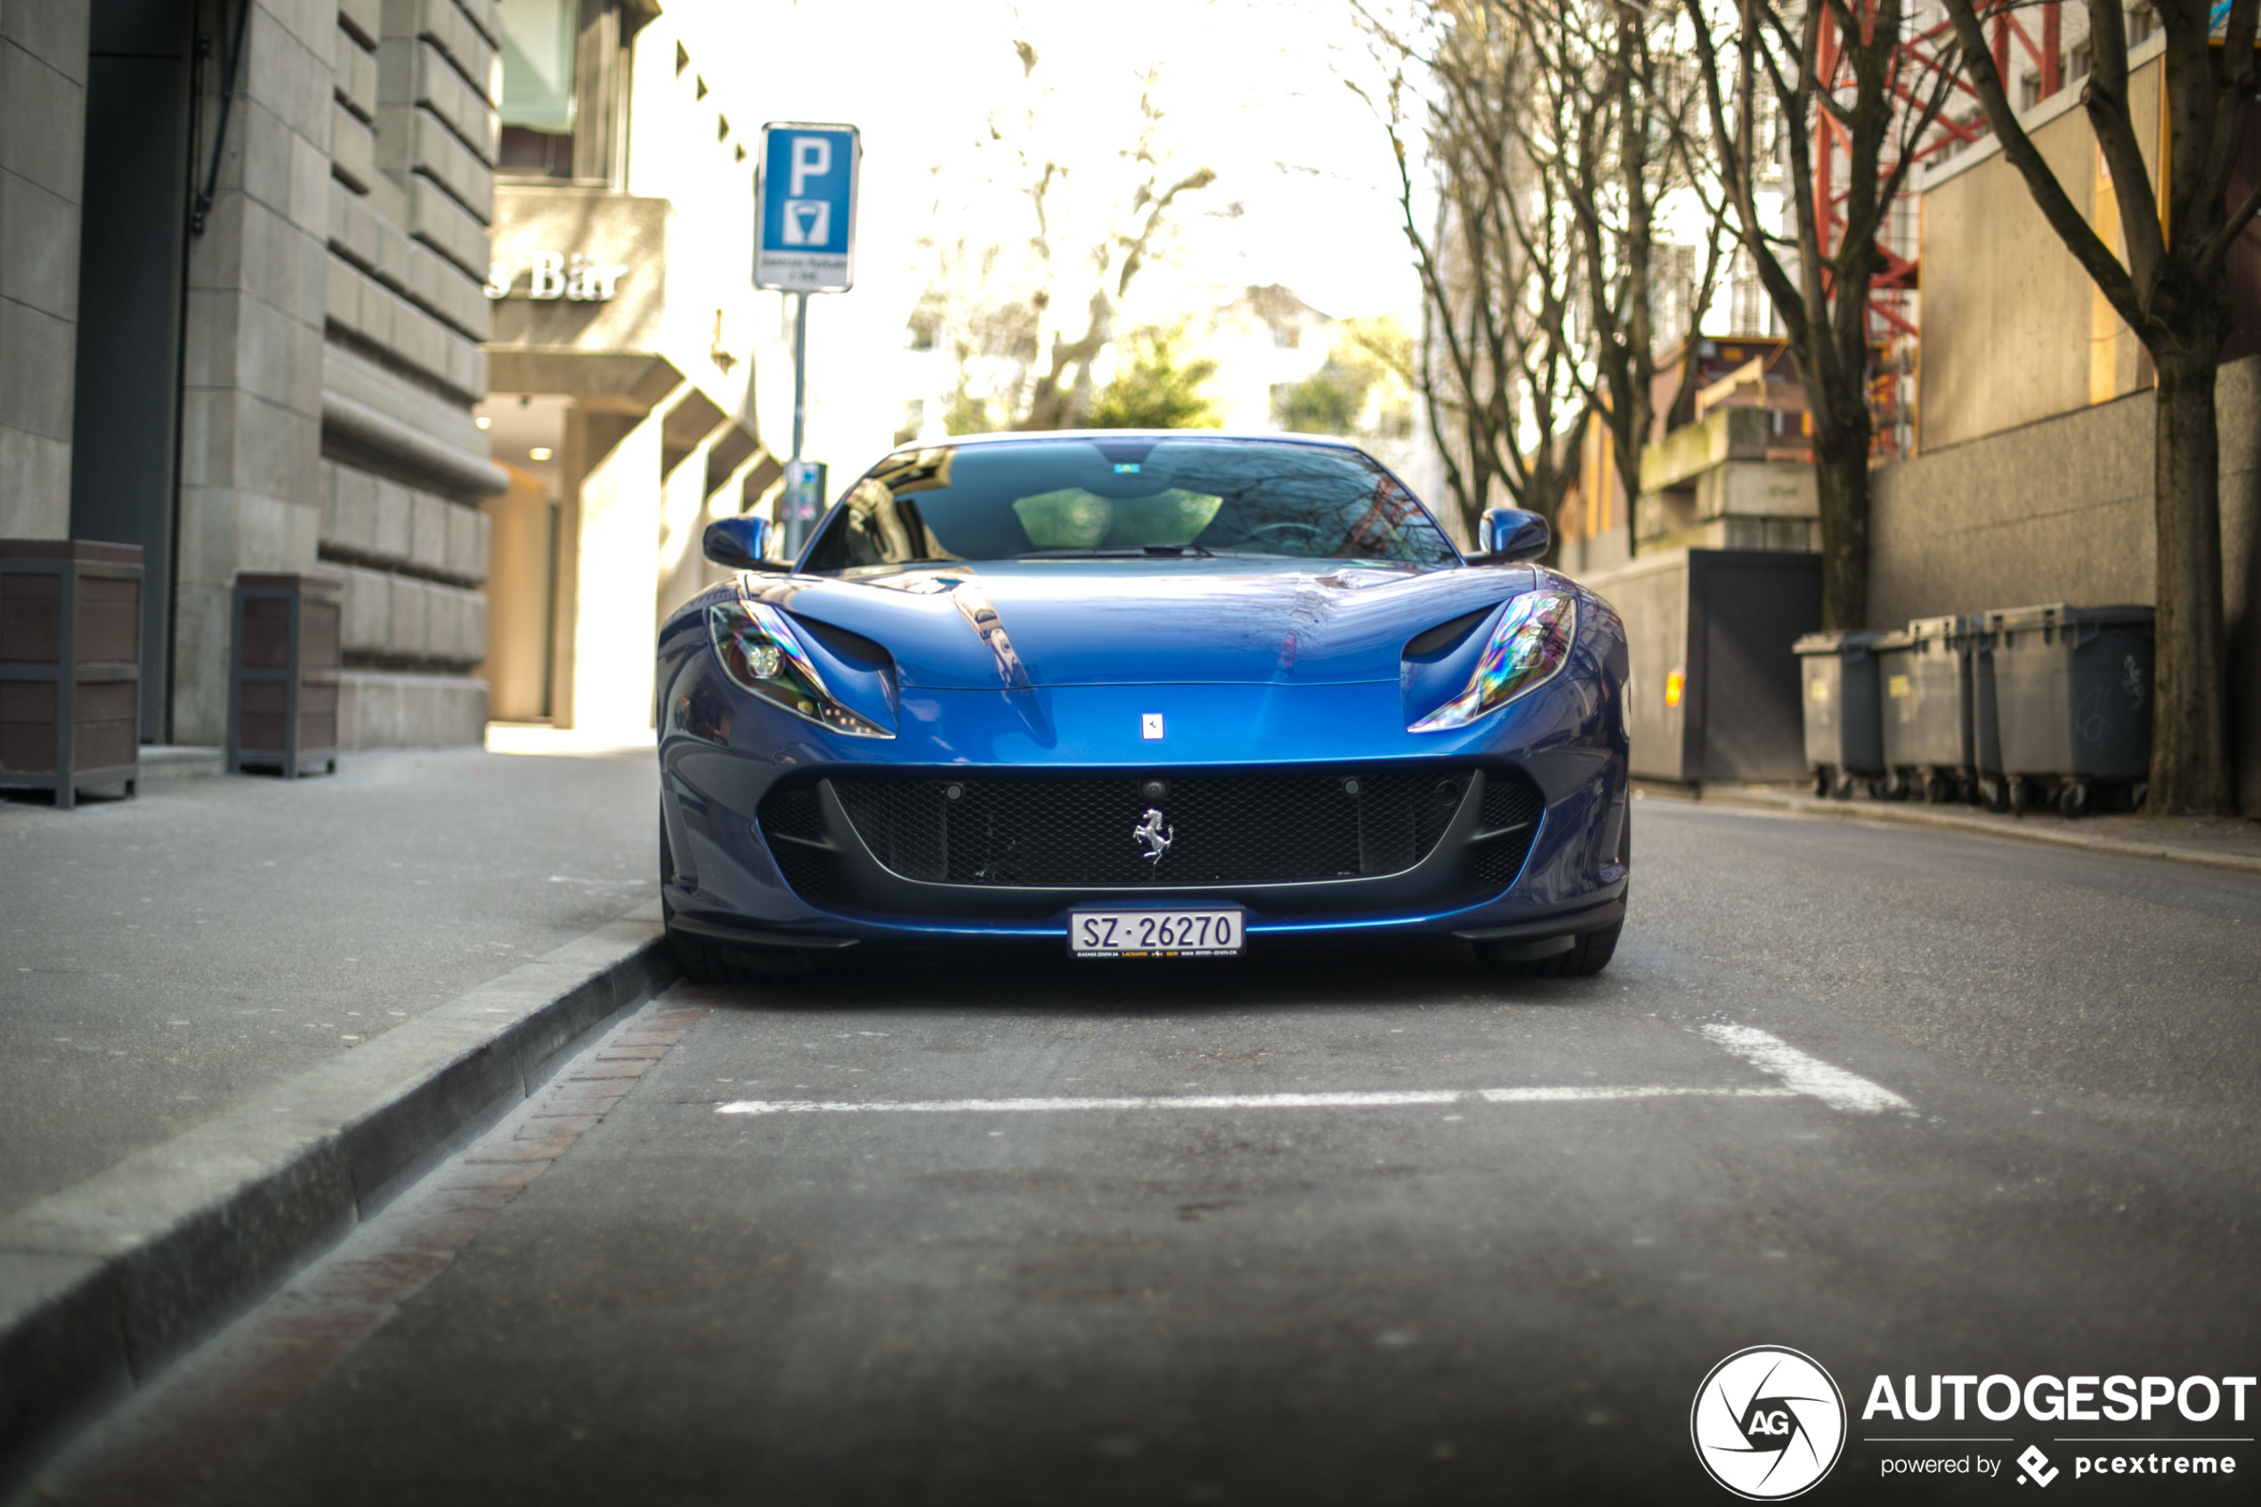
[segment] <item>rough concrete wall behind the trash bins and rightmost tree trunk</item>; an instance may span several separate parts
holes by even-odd
[[[2155,601],[2150,391],[1874,472],[1868,612]],[[2238,802],[2261,816],[2261,357],[2223,368],[2223,554]]]

